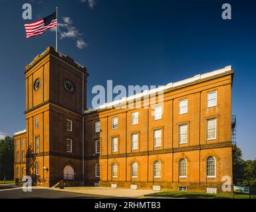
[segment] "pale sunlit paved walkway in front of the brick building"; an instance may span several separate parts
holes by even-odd
[[[152,190],[142,190],[142,189],[126,189],[126,188],[111,188],[111,187],[64,187],[64,189],[51,188],[59,191],[68,191],[74,193],[84,193],[91,195],[104,195],[112,197],[128,197],[128,198],[138,198],[142,195],[156,193],[157,191]]]

